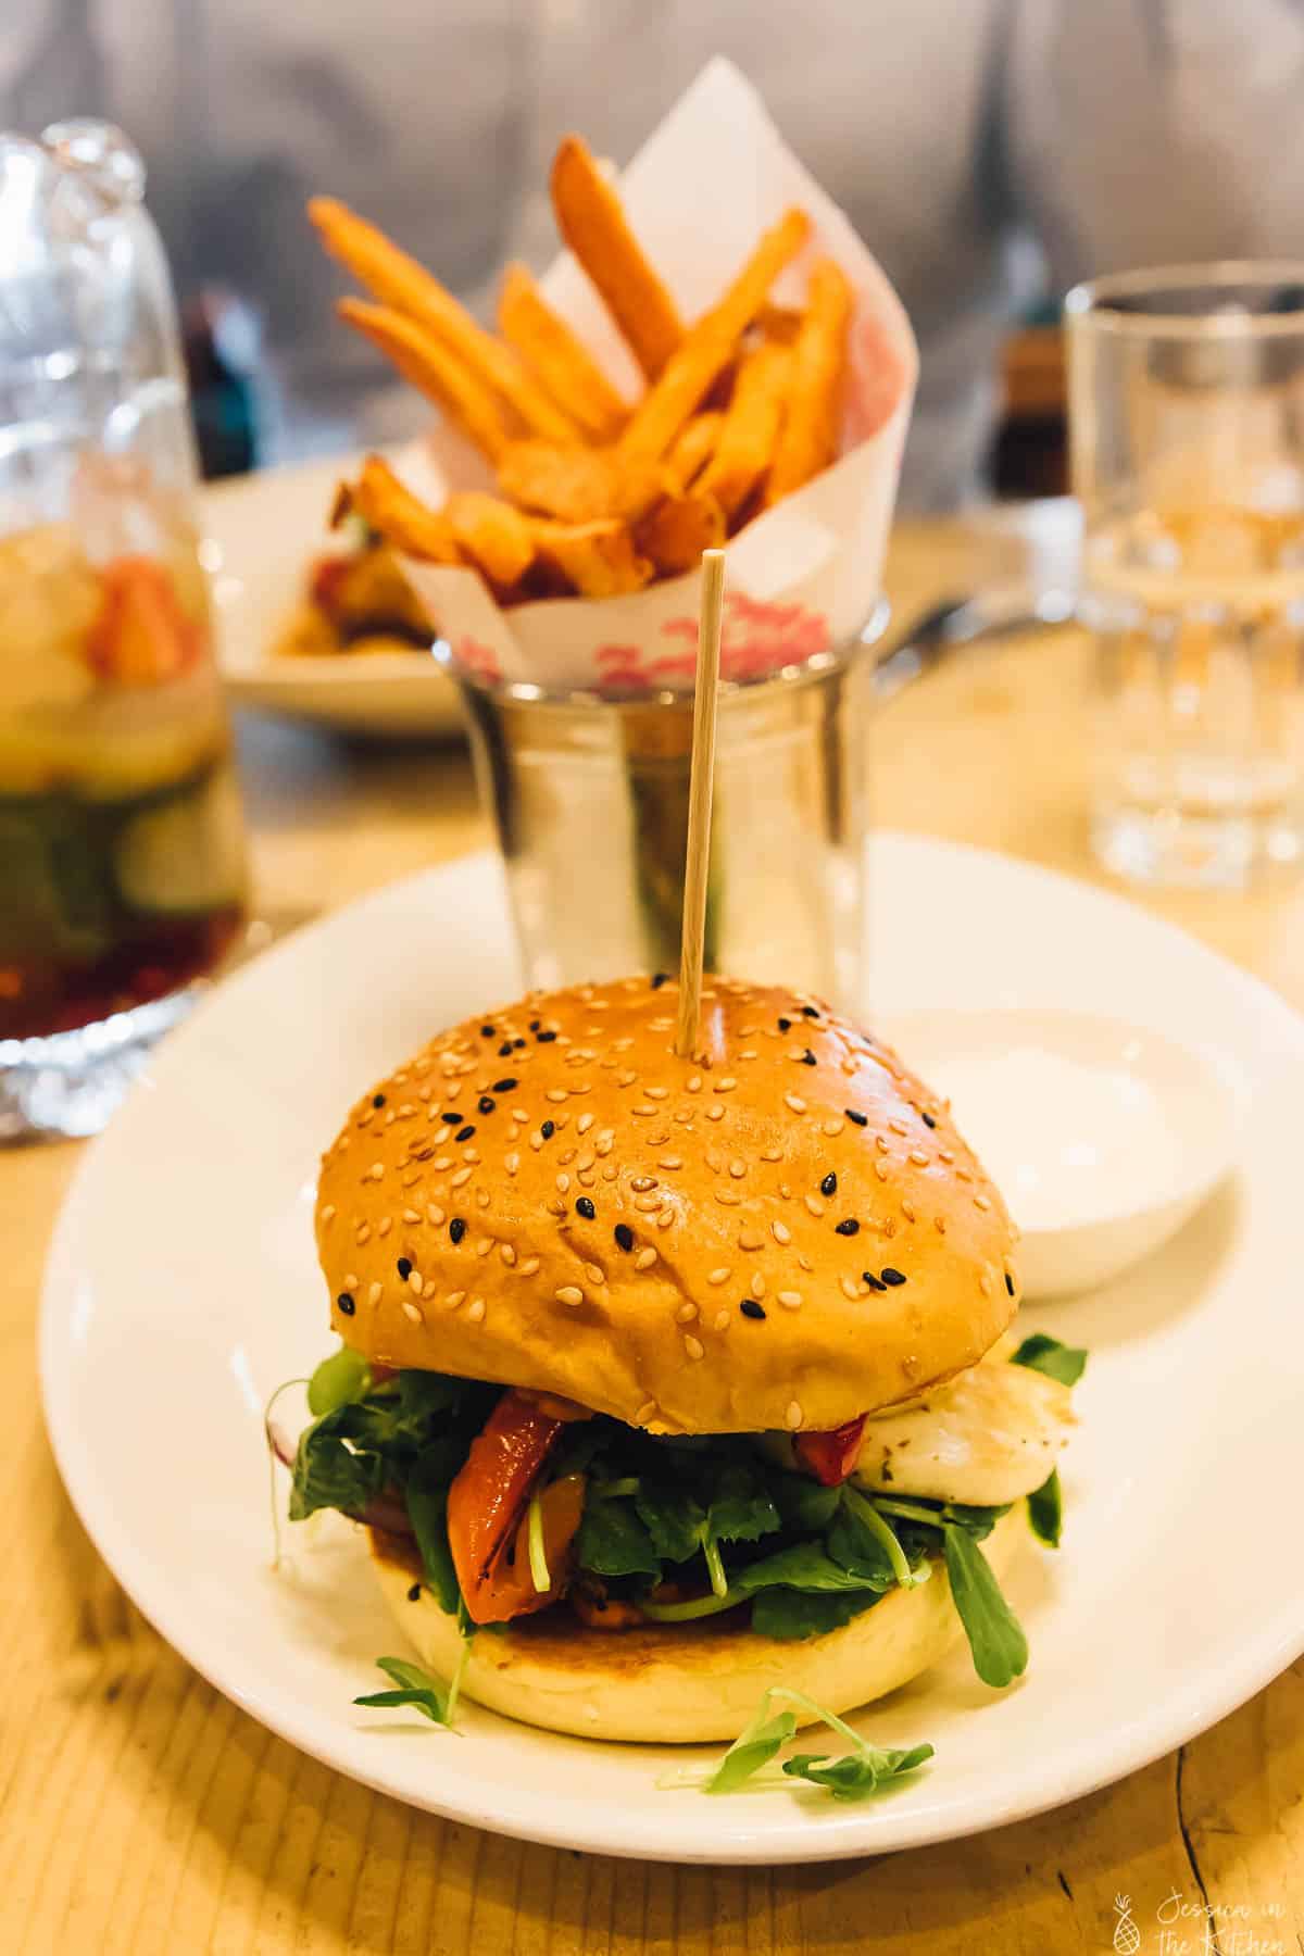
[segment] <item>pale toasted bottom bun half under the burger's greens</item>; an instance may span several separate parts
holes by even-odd
[[[1001,1575],[1028,1534],[1022,1502],[993,1528],[983,1553]],[[371,1561],[395,1623],[436,1676],[459,1657],[457,1622],[420,1582],[420,1557],[399,1537],[369,1530]],[[700,1623],[588,1629],[569,1612],[522,1618],[504,1633],[471,1641],[463,1692],[477,1704],[581,1739],[692,1745],[737,1739],[772,1684],[805,1692],[829,1712],[854,1712],[935,1665],[958,1641],[960,1618],[940,1561],[913,1590],[890,1590],[843,1629],[800,1643],[751,1629]],[[800,1725],[809,1713],[796,1710]]]

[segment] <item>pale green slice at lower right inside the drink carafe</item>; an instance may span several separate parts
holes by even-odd
[[[244,820],[231,767],[217,767],[184,794],[152,802],[123,823],[117,888],[147,915],[184,917],[244,898]]]

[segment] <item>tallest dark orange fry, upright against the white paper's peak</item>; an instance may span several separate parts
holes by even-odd
[[[684,338],[684,327],[630,229],[620,196],[581,137],[563,137],[551,190],[561,237],[598,288],[643,374],[657,379]]]

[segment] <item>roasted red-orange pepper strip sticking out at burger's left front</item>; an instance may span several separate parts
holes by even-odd
[[[448,1490],[448,1545],[475,1623],[514,1614],[497,1610],[491,1578],[561,1430],[563,1422],[542,1406],[504,1393]]]

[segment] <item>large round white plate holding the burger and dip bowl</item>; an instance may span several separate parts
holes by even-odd
[[[1009,1582],[1026,1678],[1001,1696],[956,1655],[866,1712],[880,1743],[936,1747],[913,1784],[866,1805],[661,1792],[682,1753],[557,1739],[473,1706],[461,1735],[352,1708],[401,1639],[344,1526],[317,1543],[295,1532],[293,1575],[270,1571],[262,1406],[328,1346],[311,1199],[340,1109],[438,1023],[516,988],[497,870],[471,859],[219,986],[90,1150],[51,1252],[41,1369],[78,1512],[158,1629],[295,1745],[416,1805],[561,1846],[819,1860],[1071,1800],[1304,1649],[1304,1565],[1279,1500],[1304,1481],[1304,1021],[1116,898],[917,839],[882,839],[872,867],[882,1009],[1114,1011],[1216,1037],[1253,1093],[1238,1181],[1128,1279],[1044,1318],[1093,1357],[1064,1467],[1065,1547],[1028,1541]]]

